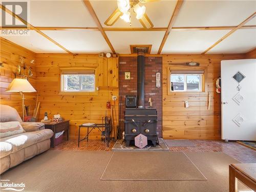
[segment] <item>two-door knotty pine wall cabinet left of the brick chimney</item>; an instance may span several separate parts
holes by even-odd
[[[118,57],[99,58],[99,87],[118,88]]]

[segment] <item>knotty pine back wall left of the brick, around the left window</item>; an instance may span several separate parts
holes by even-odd
[[[98,73],[97,94],[65,93],[59,90],[60,68],[95,68]],[[101,123],[106,109],[106,102],[111,101],[112,95],[118,98],[118,58],[99,58],[90,54],[37,54],[36,55],[36,87],[39,91],[39,119],[47,112],[50,118],[55,114],[70,120],[70,137],[77,139],[78,125],[86,122]],[[118,115],[118,100],[116,100]],[[116,118],[118,120],[118,116]],[[81,136],[86,135],[86,129],[81,130]],[[101,133],[94,129],[89,139],[100,139]]]

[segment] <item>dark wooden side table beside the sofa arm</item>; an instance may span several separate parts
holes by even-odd
[[[65,131],[66,139],[69,140],[69,120],[63,120],[61,122],[45,123],[45,129],[50,129],[53,131],[53,136],[51,138],[51,147],[55,147],[55,134],[61,131]]]

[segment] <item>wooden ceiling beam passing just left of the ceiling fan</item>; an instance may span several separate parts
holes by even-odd
[[[90,14],[91,14],[91,16],[92,16],[94,22],[96,23],[96,25],[97,25],[97,27],[98,27],[100,33],[102,34],[102,36],[104,37],[104,39],[105,39],[105,41],[106,41],[106,43],[109,45],[111,51],[112,51],[114,54],[116,54],[116,51],[115,51],[114,47],[112,46],[112,44],[111,44],[111,42],[110,42],[108,36],[106,36],[106,33],[105,33],[105,31],[103,30],[103,28],[102,28],[102,26],[101,26],[101,24],[100,24],[100,22],[99,22],[99,19],[98,19],[97,15],[96,15],[95,11],[93,10],[93,7],[92,7],[90,1],[89,1],[89,0],[83,0],[83,4],[87,7],[88,11],[90,12]]]

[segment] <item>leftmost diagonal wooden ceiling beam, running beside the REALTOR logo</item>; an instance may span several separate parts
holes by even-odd
[[[36,29],[34,26],[32,26],[31,24],[29,24],[26,20],[24,20],[23,18],[19,17],[18,15],[16,15],[15,13],[13,13],[12,11],[10,11],[9,9],[7,9],[5,6],[3,6],[2,4],[0,4],[1,9],[7,13],[9,13],[10,15],[12,15],[13,17],[15,17],[16,19],[20,20],[20,22],[24,23],[26,26],[28,26],[28,28],[35,30],[37,33],[39,33],[40,35],[44,36],[45,38],[47,38],[48,40],[50,40],[51,42],[53,42],[55,45],[57,45],[58,47],[60,47],[61,49],[65,50],[66,52],[73,54],[72,52],[70,52],[69,50],[67,50],[65,47],[61,46],[60,44],[58,44],[55,40],[53,40],[52,38],[50,38],[49,36],[47,36],[45,33],[41,32],[40,30]]]

